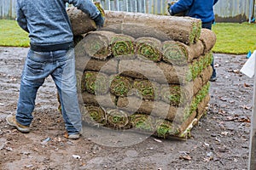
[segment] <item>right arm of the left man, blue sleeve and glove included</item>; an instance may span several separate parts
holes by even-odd
[[[96,5],[90,0],[64,0],[64,2],[72,3],[85,14],[88,14],[89,17],[96,22],[96,26],[103,26],[104,18],[102,17],[100,11],[96,8]]]

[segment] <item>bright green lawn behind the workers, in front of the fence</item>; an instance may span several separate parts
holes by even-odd
[[[247,54],[256,50],[256,24],[217,23],[212,31],[217,36],[214,53]],[[0,46],[29,47],[26,31],[15,20],[0,20]]]

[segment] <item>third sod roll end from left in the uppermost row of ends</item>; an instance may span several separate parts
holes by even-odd
[[[160,61],[162,58],[161,42],[154,37],[139,37],[135,41],[135,54],[153,61]]]

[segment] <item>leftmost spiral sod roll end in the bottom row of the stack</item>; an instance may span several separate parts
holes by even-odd
[[[106,112],[100,106],[87,105],[82,112],[82,119],[92,125],[106,125]]]

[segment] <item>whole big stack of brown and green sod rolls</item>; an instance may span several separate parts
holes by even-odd
[[[84,122],[187,138],[210,100],[215,34],[189,17],[105,14],[101,31],[73,22]]]

